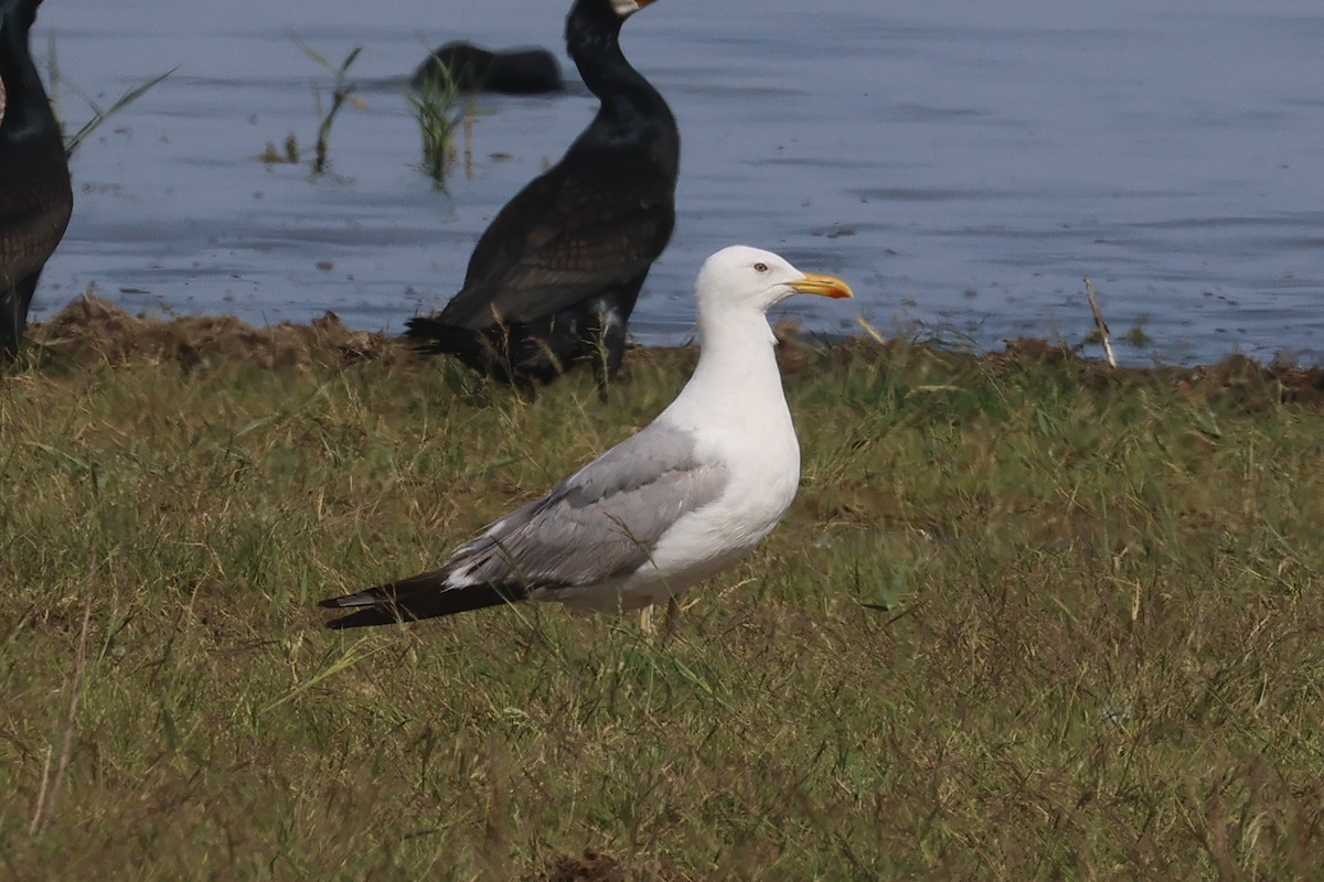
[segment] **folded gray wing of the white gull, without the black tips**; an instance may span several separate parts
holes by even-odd
[[[629,575],[667,528],[726,488],[726,464],[702,461],[695,447],[686,431],[649,426],[461,546],[448,582],[528,591]]]

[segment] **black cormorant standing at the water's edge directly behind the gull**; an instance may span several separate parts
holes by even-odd
[[[555,167],[496,214],[440,313],[409,321],[420,348],[507,382],[548,382],[592,361],[598,387],[625,356],[626,323],[675,225],[681,134],[617,37],[653,0],[576,0],[565,45],[601,99]]]

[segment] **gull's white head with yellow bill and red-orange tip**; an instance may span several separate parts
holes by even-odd
[[[732,245],[704,261],[695,292],[700,313],[724,307],[765,312],[796,294],[854,296],[850,286],[837,276],[804,272],[785,258],[748,245]]]

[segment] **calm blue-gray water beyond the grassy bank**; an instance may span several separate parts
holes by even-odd
[[[77,206],[37,317],[89,286],[126,308],[399,331],[453,294],[487,221],[556,161],[596,100],[483,97],[473,176],[416,168],[401,97],[425,45],[561,48],[568,3],[48,0],[34,49],[110,103],[179,70],[74,159]],[[626,54],[681,123],[678,223],[632,323],[690,331],[703,258],[731,242],[837,272],[854,304],[792,301],[821,331],[863,316],[997,348],[1090,328],[1082,276],[1133,362],[1324,353],[1324,7],[1312,0],[883,4],[661,0]],[[254,157],[311,145],[290,40],[351,70],[363,108],[332,175]],[[576,83],[577,85],[577,83]],[[68,86],[61,114],[89,111]]]

